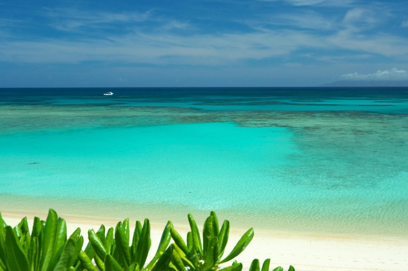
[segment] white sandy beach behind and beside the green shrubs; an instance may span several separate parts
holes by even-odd
[[[46,219],[45,213],[25,213],[17,211],[2,211],[3,219],[8,225],[15,226],[27,216],[29,225],[34,216]],[[59,214],[60,215],[60,214]],[[97,230],[101,224],[115,227],[119,220],[95,219],[80,216],[64,216],[70,235],[77,227],[82,230],[82,236],[87,240],[87,230]],[[130,225],[135,221],[130,220]],[[198,225],[202,221],[197,220]],[[165,223],[151,220],[151,238],[153,254],[159,244]],[[185,237],[188,232],[188,222],[174,227]],[[200,229],[201,230],[201,229]],[[231,251],[239,238],[247,229],[237,229],[231,226],[229,244],[226,254]],[[261,263],[271,259],[271,269],[283,266],[285,270],[293,265],[296,271],[407,271],[408,270],[408,239],[380,237],[339,237],[318,235],[297,235],[284,233],[269,233],[254,228],[255,235],[245,251],[236,259],[242,262],[244,270],[248,270],[253,259]],[[133,229],[132,229],[133,232]],[[148,260],[152,258],[149,255]]]

